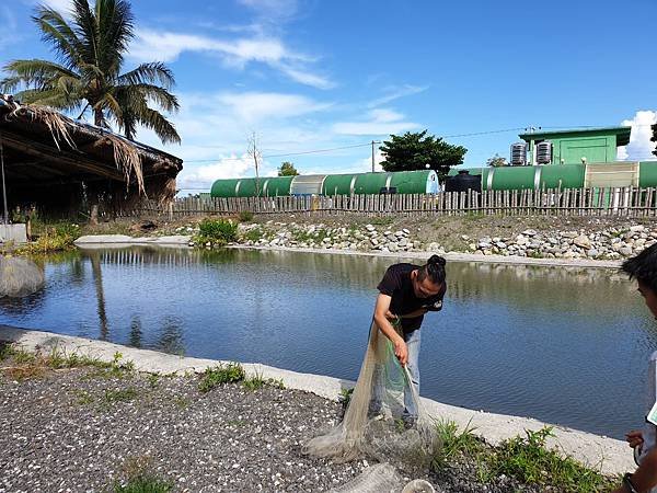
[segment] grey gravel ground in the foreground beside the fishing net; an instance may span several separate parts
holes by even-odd
[[[0,492],[112,491],[143,469],[176,492],[326,491],[368,466],[301,454],[341,409],[307,392],[226,385],[201,393],[198,377],[97,368],[13,378],[0,372]],[[477,484],[466,466],[425,479],[438,492],[519,491],[505,478]]]

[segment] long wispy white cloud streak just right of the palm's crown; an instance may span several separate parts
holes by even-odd
[[[313,73],[308,64],[313,57],[289,49],[277,37],[219,39],[196,34],[137,30],[128,56],[135,61],[174,61],[183,53],[195,51],[218,55],[229,67],[244,69],[249,64],[264,64],[291,80],[318,89],[330,89],[334,83]]]

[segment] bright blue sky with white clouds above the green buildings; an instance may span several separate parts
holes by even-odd
[[[35,3],[0,4],[0,62],[50,57],[30,21]],[[148,131],[137,138],[185,160],[183,193],[253,175],[245,153],[253,133],[264,174],[284,160],[306,174],[368,171],[367,142],[425,128],[465,146],[468,165],[482,165],[508,154],[518,134],[509,129],[626,124],[633,140],[621,157],[649,159],[654,0],[134,0],[132,8],[137,36],[125,70],[169,64],[182,103],[171,119],[183,144],[164,148]]]

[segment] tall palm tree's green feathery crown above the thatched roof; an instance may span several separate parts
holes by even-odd
[[[42,104],[67,112],[88,108],[94,124],[110,128],[115,123],[132,139],[138,125],[152,129],[166,142],[180,142],[175,127],[158,110],[178,110],[170,90],[175,84],[171,70],[161,62],[141,64],[120,73],[124,55],[134,34],[134,16],[126,0],[72,0],[71,19],[38,7],[32,18],[49,44],[57,61],[13,60],[4,66],[9,73],[0,82],[4,92],[24,88],[16,94],[24,103]]]

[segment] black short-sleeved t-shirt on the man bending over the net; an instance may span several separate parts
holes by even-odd
[[[446,283],[442,283],[442,287],[436,296],[429,298],[418,298],[415,296],[411,273],[417,268],[422,267],[413,264],[391,265],[385,271],[385,275],[379,283],[379,286],[377,286],[379,293],[392,298],[390,301],[390,311],[395,316],[411,313],[420,308],[429,311],[438,311],[442,308],[442,297],[447,290]],[[405,333],[413,332],[419,329],[423,319],[424,316],[402,319],[402,329]]]

